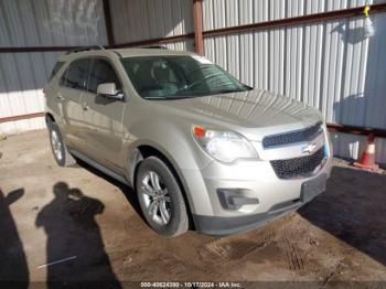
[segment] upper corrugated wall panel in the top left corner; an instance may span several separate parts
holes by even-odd
[[[101,0],[1,0],[0,46],[107,44]]]

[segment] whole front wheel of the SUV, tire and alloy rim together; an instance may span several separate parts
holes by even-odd
[[[136,191],[146,221],[158,234],[175,237],[187,231],[189,216],[181,188],[161,159],[149,157],[139,164]]]

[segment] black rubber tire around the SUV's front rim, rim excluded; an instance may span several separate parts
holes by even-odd
[[[148,216],[146,212],[143,212],[147,208],[142,203],[141,180],[143,179],[143,174],[146,174],[148,171],[157,172],[168,188],[171,200],[171,220],[167,225],[157,224]],[[149,225],[160,235],[169,237],[174,236],[180,231],[181,223],[187,218],[186,206],[178,180],[175,179],[173,172],[161,159],[157,157],[149,157],[139,164],[136,178],[136,192],[139,205],[143,212],[143,216]]]

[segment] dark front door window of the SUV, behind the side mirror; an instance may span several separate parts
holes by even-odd
[[[98,85],[104,83],[115,83],[118,90],[122,89],[120,81],[112,66],[105,60],[96,58],[93,62],[87,90],[96,94]]]

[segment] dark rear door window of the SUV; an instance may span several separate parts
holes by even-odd
[[[69,64],[61,79],[61,85],[75,89],[85,89],[90,68],[90,60],[78,60]]]

